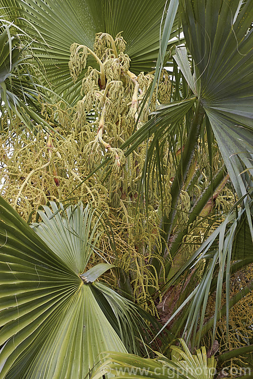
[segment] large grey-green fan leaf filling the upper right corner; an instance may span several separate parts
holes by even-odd
[[[186,44],[194,60],[194,87],[209,118],[239,197],[252,174],[252,3],[180,3]],[[186,75],[186,64],[177,62]],[[189,72],[189,69],[188,69]],[[192,88],[194,91],[194,88]]]

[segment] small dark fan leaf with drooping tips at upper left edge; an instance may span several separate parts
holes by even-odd
[[[0,111],[8,114],[10,121],[10,124],[0,121],[0,129],[11,129],[16,115],[30,130],[36,130],[40,124],[50,131],[52,126],[38,113],[37,99],[39,96],[46,99],[45,88],[30,73],[32,65],[25,63],[30,58],[27,49],[31,41],[28,36],[24,38],[22,30],[16,28],[19,34],[13,34],[14,30],[11,23],[0,27]]]

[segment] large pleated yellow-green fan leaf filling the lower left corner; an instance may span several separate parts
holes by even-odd
[[[91,210],[46,207],[33,229],[2,198],[0,213],[0,378],[83,379],[100,352],[131,351],[134,306],[92,282],[112,266],[79,276],[98,238]]]

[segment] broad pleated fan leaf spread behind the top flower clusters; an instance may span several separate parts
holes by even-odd
[[[17,3],[22,8],[19,10],[21,16],[29,21],[26,31],[42,42],[37,44],[33,53],[44,64],[52,89],[64,94],[70,103],[79,98],[83,77],[82,74],[73,84],[69,75],[69,48],[74,42],[93,48],[96,33],[106,32],[115,37],[122,31],[127,42],[126,54],[132,60],[131,71],[138,74],[151,71],[155,66],[165,0],[158,3],[151,0],[74,0],[64,3],[58,0],[17,0]],[[178,35],[178,16],[172,21],[171,38]],[[87,67],[94,64],[89,57]]]

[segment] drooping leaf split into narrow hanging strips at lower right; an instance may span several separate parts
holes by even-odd
[[[216,306],[213,323],[210,326],[213,326],[213,340],[215,336],[217,320],[219,317],[221,317],[221,315],[224,315],[225,313],[227,314],[227,330],[229,330],[229,309],[235,304],[229,298],[232,262],[236,259],[238,260],[237,269],[240,269],[241,267],[246,266],[248,263],[252,262],[253,245],[250,234],[241,235],[240,240],[238,240],[238,232],[241,231],[241,228],[243,228],[243,226],[246,228],[246,230],[249,231],[248,224],[246,223],[245,213],[245,208],[240,208],[238,212],[235,212],[232,208],[231,212],[228,214],[224,222],[215,229],[215,231],[208,237],[208,239],[204,241],[201,247],[196,250],[194,254],[187,260],[187,262],[181,267],[181,269],[170,280],[170,282],[167,283],[168,287],[170,287],[181,275],[186,272],[187,269],[196,266],[201,261],[203,262],[201,269],[202,267],[204,267],[204,269],[201,273],[201,280],[192,290],[189,296],[187,296],[184,302],[173,313],[173,315],[166,321],[159,333],[188,304],[188,307],[186,307],[184,310],[185,320],[183,334],[186,336],[187,341],[191,340],[192,346],[199,346],[200,337],[202,337],[201,333],[204,328],[203,324],[207,301],[210,292],[213,293],[214,291],[216,291]],[[238,244],[238,241],[240,241],[240,245]],[[247,248],[245,246],[246,243],[248,244]],[[239,259],[241,262],[239,262]],[[224,282],[226,283],[226,306],[225,311],[221,313],[220,307]],[[190,283],[188,283],[188,285],[190,285]],[[251,291],[250,288],[247,288],[247,290],[247,292]],[[245,296],[247,292],[245,292],[245,294],[242,296]],[[240,299],[241,297],[239,297],[237,301]],[[196,333],[197,329],[198,331]]]

